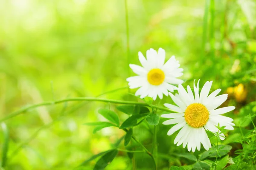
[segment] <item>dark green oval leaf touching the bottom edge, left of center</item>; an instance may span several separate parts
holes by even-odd
[[[103,155],[95,164],[95,167],[93,170],[104,170],[105,167],[108,166],[108,164],[113,161],[113,159],[116,157],[118,151],[116,149],[110,150],[105,155]]]

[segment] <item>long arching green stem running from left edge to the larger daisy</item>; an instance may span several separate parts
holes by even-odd
[[[141,103],[141,102],[122,101],[122,100],[114,100],[114,99],[101,99],[101,98],[96,98],[96,97],[75,97],[75,98],[67,98],[67,99],[61,99],[61,100],[56,100],[56,101],[42,102],[42,103],[38,103],[35,105],[26,106],[24,108],[21,108],[18,111],[10,113],[8,116],[1,119],[0,122],[10,119],[14,116],[20,115],[21,113],[28,111],[29,109],[32,109],[32,108],[37,108],[37,107],[46,106],[46,105],[55,105],[55,104],[59,104],[59,103],[63,103],[63,102],[78,102],[78,101],[91,101],[91,102],[95,101],[95,102],[109,102],[109,103],[124,104],[124,105],[149,106],[153,109],[155,108],[155,109],[159,109],[161,111],[169,111],[170,112],[170,110],[167,108],[162,108],[162,107],[155,106],[155,105],[148,105],[147,103]]]

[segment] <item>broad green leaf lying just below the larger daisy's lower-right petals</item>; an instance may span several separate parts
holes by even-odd
[[[221,148],[221,149],[220,149]],[[227,153],[229,153],[229,151],[232,149],[232,147],[230,145],[224,145],[224,144],[220,144],[218,145],[218,153],[219,156],[224,156],[227,155]],[[216,157],[217,152],[216,150],[210,149],[207,151],[204,151],[201,156],[199,157],[199,160],[203,160],[206,159],[207,157]]]

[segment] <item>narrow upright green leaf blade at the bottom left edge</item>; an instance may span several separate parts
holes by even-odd
[[[7,153],[9,148],[9,130],[6,124],[3,122],[1,123],[1,127],[3,129],[3,147],[2,147],[2,163],[0,167],[5,167],[7,162]]]

